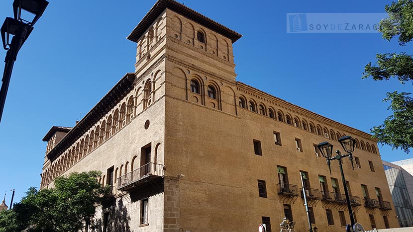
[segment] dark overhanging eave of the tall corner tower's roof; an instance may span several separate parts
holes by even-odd
[[[139,22],[139,24],[128,35],[127,39],[135,43],[145,33],[145,31],[152,25],[152,23],[161,15],[165,9],[170,9],[185,17],[194,20],[195,22],[205,26],[206,28],[215,31],[229,39],[232,43],[241,38],[241,34],[229,29],[228,27],[206,17],[205,15],[189,8],[188,6],[181,4],[175,0],[158,0],[152,6],[152,8],[146,13],[145,17]]]

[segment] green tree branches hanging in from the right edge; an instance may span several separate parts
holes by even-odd
[[[389,17],[380,21],[382,37],[392,40],[398,36],[399,44],[405,46],[413,39],[413,0],[393,1],[386,5]],[[367,64],[363,78],[374,80],[397,78],[402,84],[413,82],[413,57],[406,53],[385,53],[376,55],[376,64]],[[413,98],[412,93],[388,92],[383,100],[390,102],[388,110],[393,114],[382,125],[371,129],[374,138],[393,149],[402,149],[409,154],[413,146]]]

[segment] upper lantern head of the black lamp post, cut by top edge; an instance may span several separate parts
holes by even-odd
[[[44,10],[49,4],[46,0],[14,0],[13,11],[14,19],[19,21],[25,21],[30,26],[33,26],[36,21],[42,16]],[[25,10],[34,15],[33,19],[21,18],[21,10]]]

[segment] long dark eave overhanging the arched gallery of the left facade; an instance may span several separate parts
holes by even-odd
[[[73,127],[69,133],[47,154],[50,161],[54,161],[64,153],[73,143],[95,125],[107,112],[109,112],[130,90],[135,81],[134,73],[127,73],[103,96],[98,104],[93,107],[83,119]]]

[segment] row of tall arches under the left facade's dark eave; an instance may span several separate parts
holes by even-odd
[[[143,109],[151,104],[151,90],[152,81],[147,80],[143,89]],[[129,123],[136,116],[135,109],[137,105],[137,96],[131,95],[127,102],[123,102],[120,108],[116,108],[113,114],[109,114],[106,120],[103,120],[99,125],[95,125],[90,133],[86,134],[86,136],[84,135],[80,142],[73,144],[68,152],[65,152],[64,155],[60,155],[57,160],[53,161],[50,169],[43,172],[41,186],[53,181],[57,176],[91,153],[109,139],[110,136]]]

